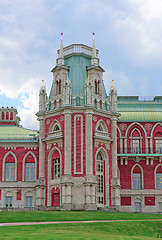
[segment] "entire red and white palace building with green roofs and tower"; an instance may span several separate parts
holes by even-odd
[[[39,133],[0,109],[0,208],[162,211],[162,97],[107,95],[98,52],[61,38]]]

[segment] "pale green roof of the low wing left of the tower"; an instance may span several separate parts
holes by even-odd
[[[38,142],[38,132],[20,126],[0,125],[0,142]]]

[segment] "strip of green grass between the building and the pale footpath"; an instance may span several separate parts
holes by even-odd
[[[159,214],[108,213],[86,211],[40,211],[0,212],[0,223],[6,222],[47,222],[47,221],[88,221],[88,220],[144,220],[162,219]]]

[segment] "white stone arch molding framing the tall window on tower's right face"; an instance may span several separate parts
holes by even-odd
[[[109,206],[109,157],[108,153],[105,150],[105,148],[100,147],[97,149],[96,154],[95,154],[95,171],[96,171],[96,160],[97,160],[97,154],[101,152],[103,155],[103,159],[105,161],[105,169],[104,169],[104,176],[105,176],[105,196],[106,196],[106,206]]]

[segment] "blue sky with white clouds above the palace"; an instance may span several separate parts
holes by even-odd
[[[0,107],[15,107],[21,124],[38,129],[39,89],[52,85],[63,44],[99,50],[107,93],[162,94],[162,0],[0,0]]]

